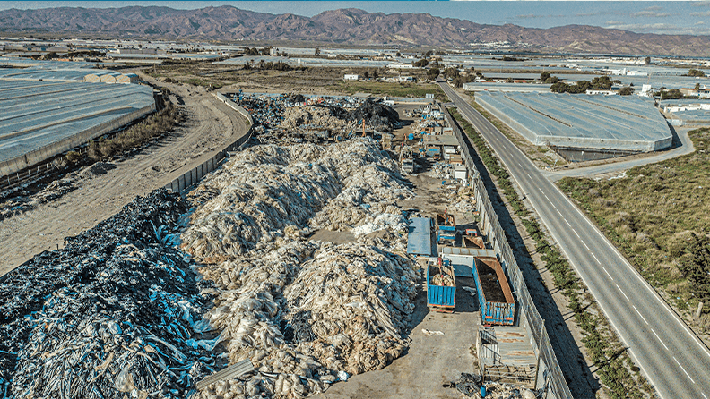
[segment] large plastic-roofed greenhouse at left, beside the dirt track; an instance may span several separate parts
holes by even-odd
[[[135,84],[0,79],[0,109],[0,175],[7,175],[152,113],[155,100],[152,88]]]

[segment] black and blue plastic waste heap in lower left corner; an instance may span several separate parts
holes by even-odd
[[[0,392],[183,398],[221,367],[200,316],[211,298],[175,248],[186,210],[153,191],[4,276]]]

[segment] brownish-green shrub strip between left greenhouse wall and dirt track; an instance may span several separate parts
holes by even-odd
[[[183,115],[177,106],[168,103],[157,114],[149,116],[143,123],[135,124],[112,139],[102,138],[89,143],[87,155],[91,161],[108,159],[129,149],[135,149],[148,141],[160,137],[182,122]],[[74,157],[74,156],[73,156]],[[67,159],[69,154],[67,154]]]

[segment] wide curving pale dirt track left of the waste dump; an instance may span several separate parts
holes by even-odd
[[[182,98],[186,123],[133,156],[112,160],[115,169],[83,180],[61,199],[0,222],[0,276],[43,250],[63,246],[64,237],[117,213],[135,196],[169,183],[247,132],[247,120],[205,89],[160,84]]]

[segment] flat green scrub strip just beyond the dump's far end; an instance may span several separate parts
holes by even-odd
[[[427,93],[434,93],[434,98],[447,101],[444,91],[437,84],[422,84],[411,82],[384,82],[384,81],[336,81],[327,89],[340,91],[353,95],[355,93],[372,93],[392,97],[417,97],[423,98]]]

